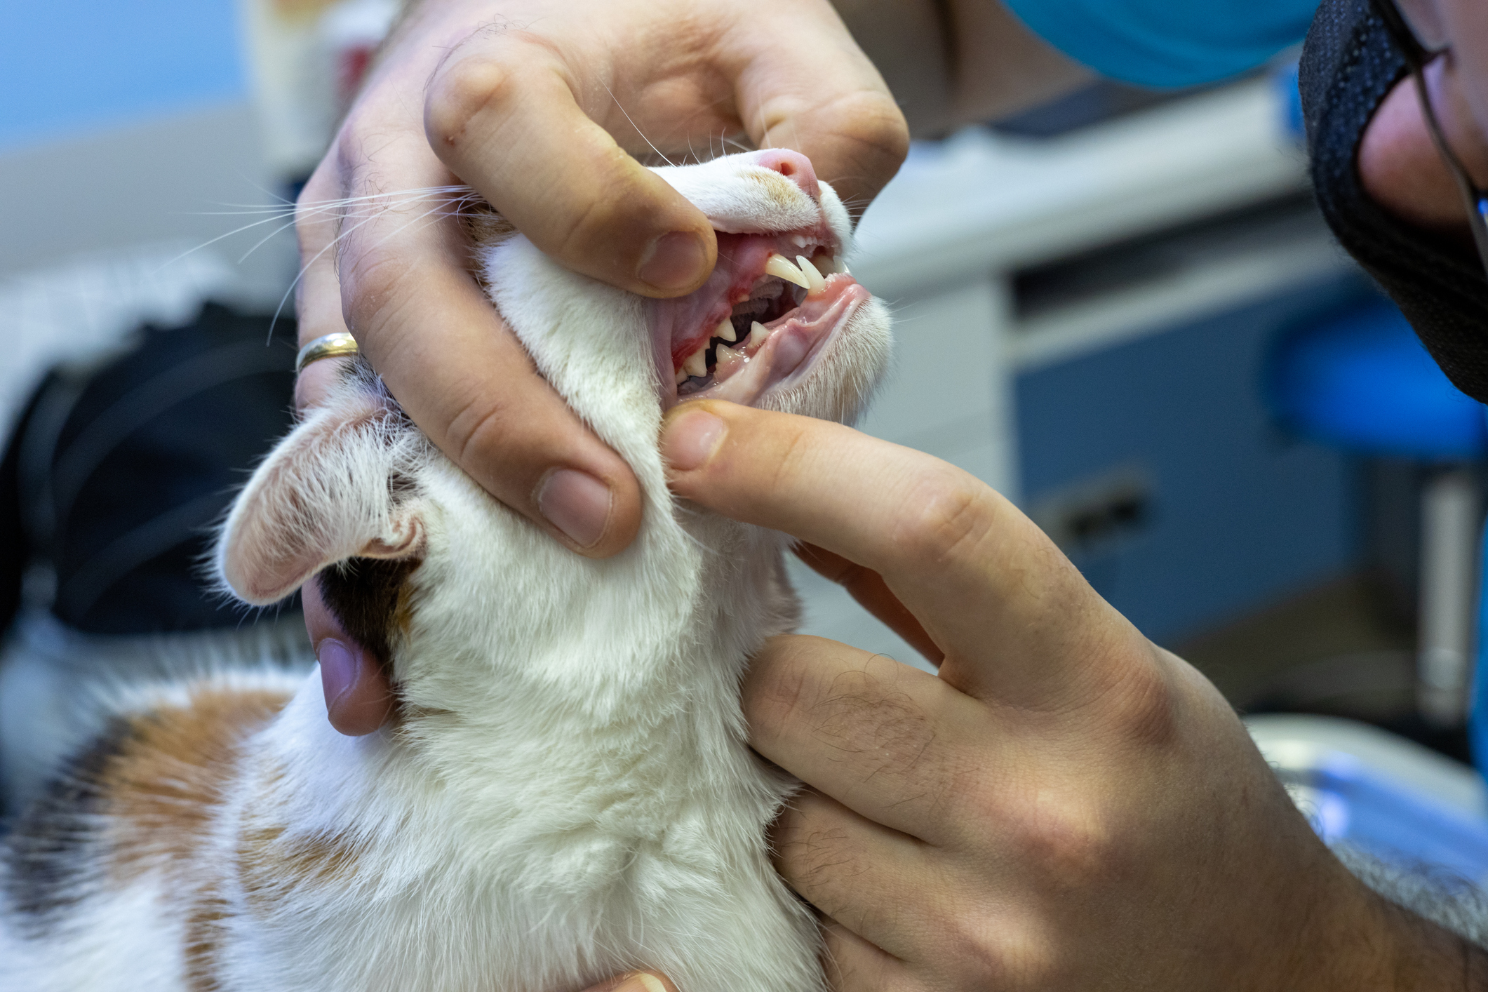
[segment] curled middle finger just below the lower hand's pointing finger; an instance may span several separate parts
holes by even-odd
[[[981,764],[992,750],[976,700],[885,654],[818,637],[771,638],[750,662],[741,705],[762,756],[930,843],[955,836],[949,800],[934,797],[955,799],[966,778],[958,761]]]

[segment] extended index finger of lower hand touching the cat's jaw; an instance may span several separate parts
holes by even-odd
[[[1028,518],[937,458],[707,400],[668,413],[662,452],[679,495],[879,573],[979,699],[1067,709],[1146,650]]]

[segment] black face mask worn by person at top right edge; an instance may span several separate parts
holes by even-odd
[[[1323,0],[1301,67],[1312,187],[1339,242],[1390,293],[1448,378],[1488,402],[1488,280],[1478,254],[1387,214],[1354,167],[1364,125],[1406,71],[1367,0]]]

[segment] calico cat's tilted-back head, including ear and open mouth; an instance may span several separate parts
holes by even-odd
[[[686,297],[618,290],[554,263],[498,219],[472,223],[491,300],[637,474],[643,522],[626,552],[592,561],[558,546],[455,468],[357,364],[240,494],[219,543],[223,583],[268,604],[329,570],[321,586],[341,587],[339,604],[327,598],[350,632],[394,660],[440,623],[472,650],[500,637],[519,653],[543,650],[540,631],[637,611],[684,623],[707,598],[696,587],[704,558],[751,538],[676,506],[658,452],[664,410],[719,397],[851,421],[885,367],[890,321],[847,274],[848,214],[804,156],[768,150],[656,171],[719,236],[717,268]]]

